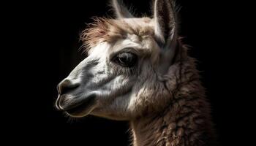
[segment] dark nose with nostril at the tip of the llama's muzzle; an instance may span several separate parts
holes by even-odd
[[[79,83],[73,83],[70,80],[65,79],[61,81],[59,85],[57,85],[57,90],[59,95],[63,95],[64,93],[75,90],[75,88],[78,88],[79,85]]]

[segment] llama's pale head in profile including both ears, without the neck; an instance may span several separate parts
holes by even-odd
[[[134,18],[113,0],[116,19],[99,18],[82,34],[89,56],[58,85],[56,107],[73,117],[130,120],[164,107],[162,77],[176,52],[176,13],[154,1],[153,18]]]

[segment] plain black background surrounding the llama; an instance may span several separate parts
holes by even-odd
[[[132,5],[138,16],[151,14],[150,1],[125,3]],[[189,54],[198,60],[219,142],[245,145],[243,138],[248,133],[242,131],[248,129],[245,116],[250,115],[246,110],[251,107],[243,92],[246,64],[241,61],[246,57],[241,54],[244,43],[238,33],[241,19],[246,17],[233,2],[177,0],[177,4],[181,6],[179,34],[191,46]],[[4,11],[9,14],[7,22],[11,22],[6,36],[9,47],[5,50],[11,55],[5,62],[9,63],[7,74],[14,80],[5,86],[14,88],[5,91],[5,99],[10,101],[1,106],[8,111],[3,116],[8,125],[2,125],[7,128],[5,135],[13,139],[8,142],[128,145],[127,122],[92,116],[69,120],[53,108],[58,96],[56,85],[86,57],[78,51],[80,31],[93,16],[113,15],[108,1],[37,1],[9,6],[11,9]]]

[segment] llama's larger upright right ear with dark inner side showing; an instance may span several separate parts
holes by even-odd
[[[155,0],[154,2],[155,35],[165,44],[176,39],[176,11],[173,0]]]

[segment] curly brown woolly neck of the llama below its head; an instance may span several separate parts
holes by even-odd
[[[134,146],[213,145],[210,108],[195,61],[181,58],[176,58],[178,61],[165,77],[166,87],[173,95],[170,104],[162,112],[131,121]]]

